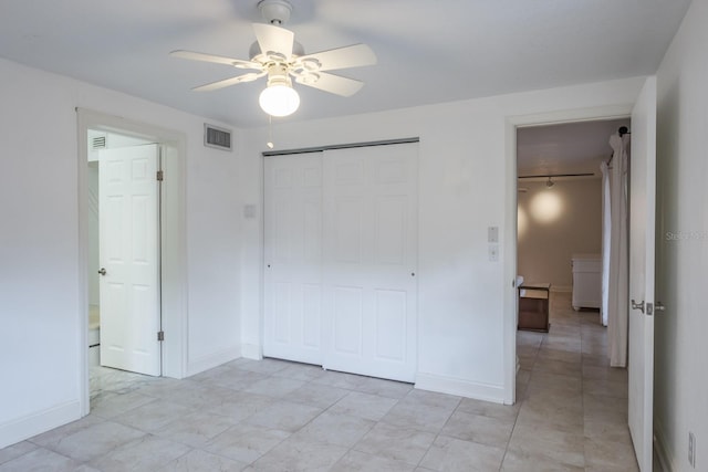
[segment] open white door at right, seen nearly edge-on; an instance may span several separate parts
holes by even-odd
[[[629,431],[639,469],[652,470],[654,405],[654,259],[656,208],[656,77],[632,113],[629,197]]]

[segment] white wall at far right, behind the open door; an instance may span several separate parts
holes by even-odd
[[[670,470],[708,468],[708,1],[694,0],[657,73],[655,430]],[[663,223],[662,223],[663,220]],[[669,234],[670,233],[670,234]],[[688,432],[697,464],[688,464]]]

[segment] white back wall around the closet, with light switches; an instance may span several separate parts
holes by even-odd
[[[503,370],[504,310],[508,316],[513,313],[504,297],[514,300],[516,254],[503,248],[516,232],[516,154],[509,151],[508,136],[516,132],[509,130],[507,118],[632,104],[643,81],[274,126],[278,149],[420,137],[419,387],[494,401],[502,401],[509,387]],[[260,153],[267,150],[267,133],[250,130],[241,154],[242,200],[258,203],[261,211]],[[241,327],[244,355],[250,356],[260,354],[262,339],[261,217],[244,224],[242,233]],[[500,230],[499,262],[488,261],[489,225]]]

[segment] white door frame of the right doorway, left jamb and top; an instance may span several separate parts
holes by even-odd
[[[563,123],[625,118],[632,115],[634,103],[563,109],[530,115],[508,116],[504,124],[506,140],[506,201],[504,227],[509,237],[503,242],[504,292],[504,405],[517,401],[517,128],[523,126],[559,125]]]

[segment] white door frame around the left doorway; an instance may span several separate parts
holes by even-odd
[[[186,149],[184,133],[159,126],[76,108],[77,211],[79,211],[79,359],[80,410],[88,415],[88,129],[105,130],[154,140],[162,145],[162,325],[167,333],[162,346],[163,376],[184,378],[187,371],[187,247],[186,247]]]

